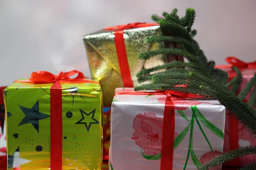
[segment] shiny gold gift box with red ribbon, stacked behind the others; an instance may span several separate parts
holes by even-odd
[[[163,43],[150,44],[146,37],[160,36],[157,23],[133,23],[104,28],[83,37],[91,76],[102,87],[104,107],[111,107],[115,88],[137,86],[136,74],[167,62],[165,55],[147,61],[138,54],[163,48]]]

